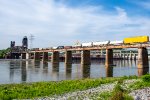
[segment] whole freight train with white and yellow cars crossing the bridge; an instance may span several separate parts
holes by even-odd
[[[124,38],[121,41],[97,41],[97,42],[87,42],[81,43],[74,46],[58,46],[58,47],[49,47],[49,48],[33,48],[32,50],[48,50],[48,49],[70,49],[70,48],[81,48],[81,47],[93,47],[93,46],[108,46],[108,45],[126,45],[126,44],[141,44],[148,43],[149,36],[136,36]]]

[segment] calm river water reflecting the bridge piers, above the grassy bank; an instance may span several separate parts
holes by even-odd
[[[0,61],[0,84],[37,81],[60,81],[82,78],[118,77],[149,73],[149,64],[138,68],[136,60],[115,60],[116,66],[105,66],[105,61],[92,61],[91,65],[64,62],[52,64],[43,61]],[[141,65],[140,65],[141,67]]]

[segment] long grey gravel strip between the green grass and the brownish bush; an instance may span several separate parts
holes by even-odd
[[[96,100],[98,94],[102,92],[112,91],[116,83],[101,85],[96,88],[91,88],[83,91],[76,91],[60,96],[45,97],[38,100]]]

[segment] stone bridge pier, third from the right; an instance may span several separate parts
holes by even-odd
[[[90,58],[90,51],[89,50],[83,50],[81,52],[81,64],[82,65],[90,65],[91,64],[91,58]]]

